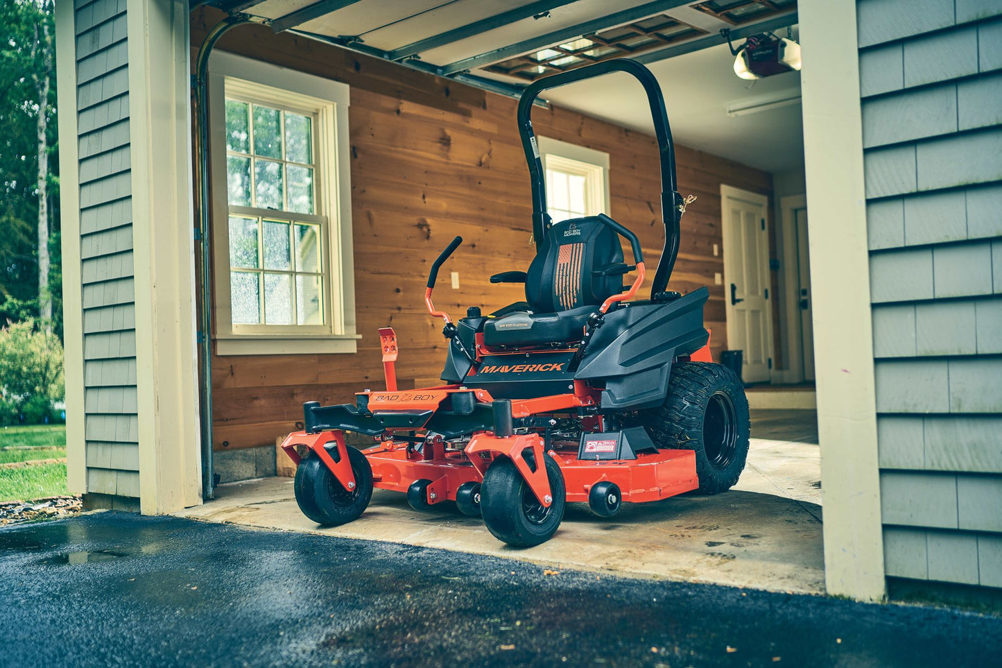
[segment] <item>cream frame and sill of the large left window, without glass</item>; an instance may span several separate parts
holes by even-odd
[[[352,190],[348,133],[350,89],[331,81],[278,65],[216,51],[209,59],[209,145],[212,177],[213,291],[215,297],[215,346],[217,355],[288,355],[354,353],[355,267],[352,243]],[[323,222],[322,273],[324,274],[323,325],[233,325],[229,293],[229,205],[226,188],[227,94],[253,98],[263,104],[309,113],[314,127],[315,173],[319,186],[314,196],[316,216],[295,215],[304,223]],[[276,216],[270,210],[243,212]],[[234,215],[240,215],[234,212]],[[323,226],[322,226],[323,229]]]

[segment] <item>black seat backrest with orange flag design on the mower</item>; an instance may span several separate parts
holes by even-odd
[[[622,243],[597,218],[552,226],[526,272],[525,300],[536,313],[599,306],[623,290],[622,276],[594,276],[595,269],[623,261]]]

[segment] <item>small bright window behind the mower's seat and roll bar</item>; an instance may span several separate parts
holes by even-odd
[[[539,150],[554,223],[608,213],[608,153],[548,137],[539,137]]]

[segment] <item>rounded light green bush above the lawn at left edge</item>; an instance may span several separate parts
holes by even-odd
[[[0,424],[41,422],[63,397],[59,338],[33,320],[0,329]]]

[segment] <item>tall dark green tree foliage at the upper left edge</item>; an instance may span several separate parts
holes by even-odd
[[[55,71],[39,35],[55,34],[51,0],[0,0],[0,323],[38,313],[38,114],[47,114],[49,294],[53,331],[62,336]],[[49,73],[47,100],[36,77]],[[53,238],[55,244],[53,244]]]

